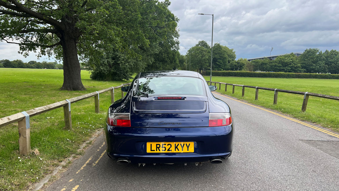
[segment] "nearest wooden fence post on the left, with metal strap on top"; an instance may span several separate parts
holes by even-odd
[[[31,151],[31,132],[29,131],[29,115],[26,111],[21,112],[25,117],[18,121],[19,129],[19,153],[28,155]]]

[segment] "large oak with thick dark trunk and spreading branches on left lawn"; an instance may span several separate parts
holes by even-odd
[[[24,55],[63,59],[61,89],[84,90],[78,55],[98,59],[120,47],[121,13],[117,0],[0,0],[0,40],[18,44]]]

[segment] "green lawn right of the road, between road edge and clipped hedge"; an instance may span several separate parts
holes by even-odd
[[[204,77],[206,81],[210,80],[210,76]],[[313,93],[339,96],[339,80],[334,79],[286,79],[212,76],[212,81],[286,90],[308,91]],[[259,98],[258,100],[255,100],[254,88],[245,88],[245,96],[241,97],[242,87],[236,86],[235,93],[232,94],[232,86],[227,86],[227,92],[225,92],[225,85],[221,85],[221,90],[219,90],[219,84],[217,84],[217,86],[217,91],[220,93],[231,95],[235,98],[245,100],[256,105],[261,105],[266,108],[278,110],[295,118],[317,123],[323,127],[327,127],[339,132],[339,101],[310,96],[308,99],[307,109],[305,112],[302,112],[301,106],[304,97],[303,95],[279,92],[278,103],[273,105],[274,91],[260,89]]]

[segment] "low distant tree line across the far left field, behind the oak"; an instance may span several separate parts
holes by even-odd
[[[80,63],[81,69],[84,68],[84,63]],[[0,68],[37,68],[37,69],[63,69],[63,64],[58,64],[57,62],[37,62],[37,61],[29,61],[27,63],[22,60],[8,60],[3,59],[0,60]]]

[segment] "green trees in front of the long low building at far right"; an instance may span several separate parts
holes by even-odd
[[[275,60],[268,58],[248,62],[238,59],[244,71],[273,71],[295,73],[339,73],[339,51],[320,51],[317,48],[306,49],[300,56],[293,53],[278,56]]]

